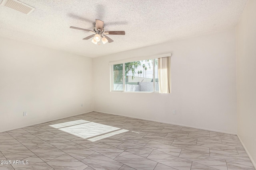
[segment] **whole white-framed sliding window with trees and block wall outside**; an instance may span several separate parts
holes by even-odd
[[[159,85],[164,86],[163,81],[159,84],[159,59],[148,59],[133,61],[122,64],[111,65],[112,89],[119,92],[159,92]],[[168,65],[168,64],[167,64]],[[160,65],[160,68],[162,66]],[[170,74],[168,74],[170,76]],[[164,77],[165,82],[169,82],[168,76]],[[163,79],[163,78],[162,78]],[[162,80],[160,79],[160,80]],[[160,90],[162,93],[169,93],[170,90]]]

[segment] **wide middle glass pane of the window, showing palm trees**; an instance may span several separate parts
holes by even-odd
[[[153,60],[125,63],[125,90],[153,92]]]

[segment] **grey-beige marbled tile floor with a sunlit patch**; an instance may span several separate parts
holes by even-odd
[[[12,163],[0,170],[254,170],[236,135],[97,112],[0,133],[0,160]]]

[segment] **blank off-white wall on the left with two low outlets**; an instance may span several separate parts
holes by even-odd
[[[91,58],[0,37],[0,132],[92,110]]]

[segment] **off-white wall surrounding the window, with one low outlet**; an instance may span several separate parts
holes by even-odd
[[[172,94],[110,92],[110,61],[169,52]],[[235,29],[94,58],[93,68],[95,111],[236,134]]]

